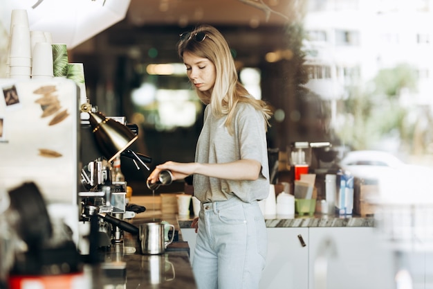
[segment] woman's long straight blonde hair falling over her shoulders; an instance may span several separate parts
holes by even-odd
[[[196,33],[205,33],[203,41],[194,39]],[[272,112],[270,106],[264,100],[252,97],[245,87],[239,82],[237,70],[230,48],[219,30],[209,25],[202,25],[191,31],[192,37],[187,37],[178,43],[178,55],[183,58],[183,53],[190,52],[200,58],[210,60],[216,69],[216,80],[212,91],[200,91],[196,93],[205,104],[211,104],[212,114],[216,117],[227,116],[225,127],[232,133],[232,121],[235,108],[238,103],[249,103],[263,114],[266,129],[269,125]]]

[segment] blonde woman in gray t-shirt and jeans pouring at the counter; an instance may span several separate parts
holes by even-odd
[[[267,236],[257,204],[269,193],[266,128],[268,105],[238,81],[230,48],[212,26],[183,33],[178,43],[187,76],[206,105],[194,163],[156,166],[174,179],[193,175],[201,201],[194,219],[197,240],[193,271],[199,289],[258,288]]]

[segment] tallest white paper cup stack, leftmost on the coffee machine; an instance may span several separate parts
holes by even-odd
[[[29,79],[31,44],[27,10],[12,10],[9,43],[8,76],[10,78]]]

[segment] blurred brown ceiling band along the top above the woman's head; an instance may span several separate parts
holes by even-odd
[[[289,12],[296,3],[293,0],[131,0],[127,19],[138,26],[187,26],[207,22],[257,27],[293,19]],[[266,19],[264,10],[275,13],[270,13]]]

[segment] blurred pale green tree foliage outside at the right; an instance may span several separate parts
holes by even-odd
[[[371,149],[380,141],[398,136],[400,147],[412,146],[414,125],[407,116],[413,107],[400,104],[402,91],[416,91],[416,71],[398,64],[378,71],[367,87],[352,87],[343,100],[344,123],[338,135],[354,150]]]

